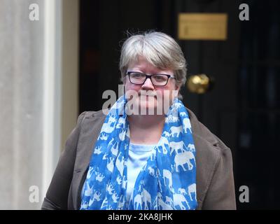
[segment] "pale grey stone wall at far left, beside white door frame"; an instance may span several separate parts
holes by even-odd
[[[29,20],[31,3],[39,6],[38,21]],[[38,209],[43,183],[44,1],[0,0],[0,40],[0,209]],[[34,190],[39,202],[29,198]]]

